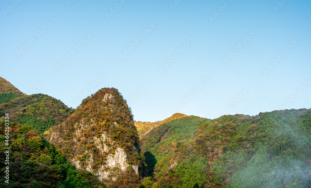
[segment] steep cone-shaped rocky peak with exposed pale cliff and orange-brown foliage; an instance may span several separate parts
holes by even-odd
[[[114,88],[103,88],[84,99],[70,118],[53,127],[47,139],[73,165],[101,180],[115,180],[128,170],[137,174],[142,164],[133,116]]]

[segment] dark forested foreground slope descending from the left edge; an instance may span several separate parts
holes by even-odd
[[[10,131],[9,142],[5,140],[5,129]],[[76,170],[63,157],[59,148],[47,142],[30,125],[17,123],[5,126],[0,121],[0,152],[9,149],[10,183],[5,183],[1,176],[0,187],[3,188],[102,188],[105,187],[96,176],[86,170]],[[4,174],[5,156],[0,155],[1,174]]]

